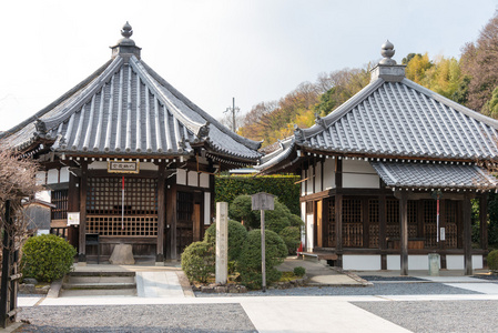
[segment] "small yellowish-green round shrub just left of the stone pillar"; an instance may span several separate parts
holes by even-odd
[[[213,244],[207,242],[194,242],[183,250],[182,270],[190,281],[201,283],[214,274],[215,253]]]

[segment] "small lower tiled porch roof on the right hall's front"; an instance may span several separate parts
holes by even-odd
[[[498,181],[471,164],[370,162],[388,188],[495,189]]]

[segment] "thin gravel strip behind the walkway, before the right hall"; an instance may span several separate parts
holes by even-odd
[[[480,294],[475,291],[444,285],[441,283],[389,283],[374,286],[303,286],[294,289],[252,291],[243,296],[336,296],[336,295],[436,295],[436,294]],[[231,297],[241,294],[211,294],[195,292],[196,297]]]

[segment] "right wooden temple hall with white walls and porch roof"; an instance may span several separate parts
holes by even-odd
[[[482,165],[496,165],[498,122],[406,79],[394,52],[383,44],[367,87],[296,128],[257,169],[302,176],[307,253],[402,274],[427,270],[437,253],[441,269],[470,274],[486,265],[487,193],[498,183]]]

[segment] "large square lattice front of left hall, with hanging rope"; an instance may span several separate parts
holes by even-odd
[[[155,179],[125,176],[124,202],[121,176],[92,176],[88,184],[88,233],[106,236],[157,235]]]

